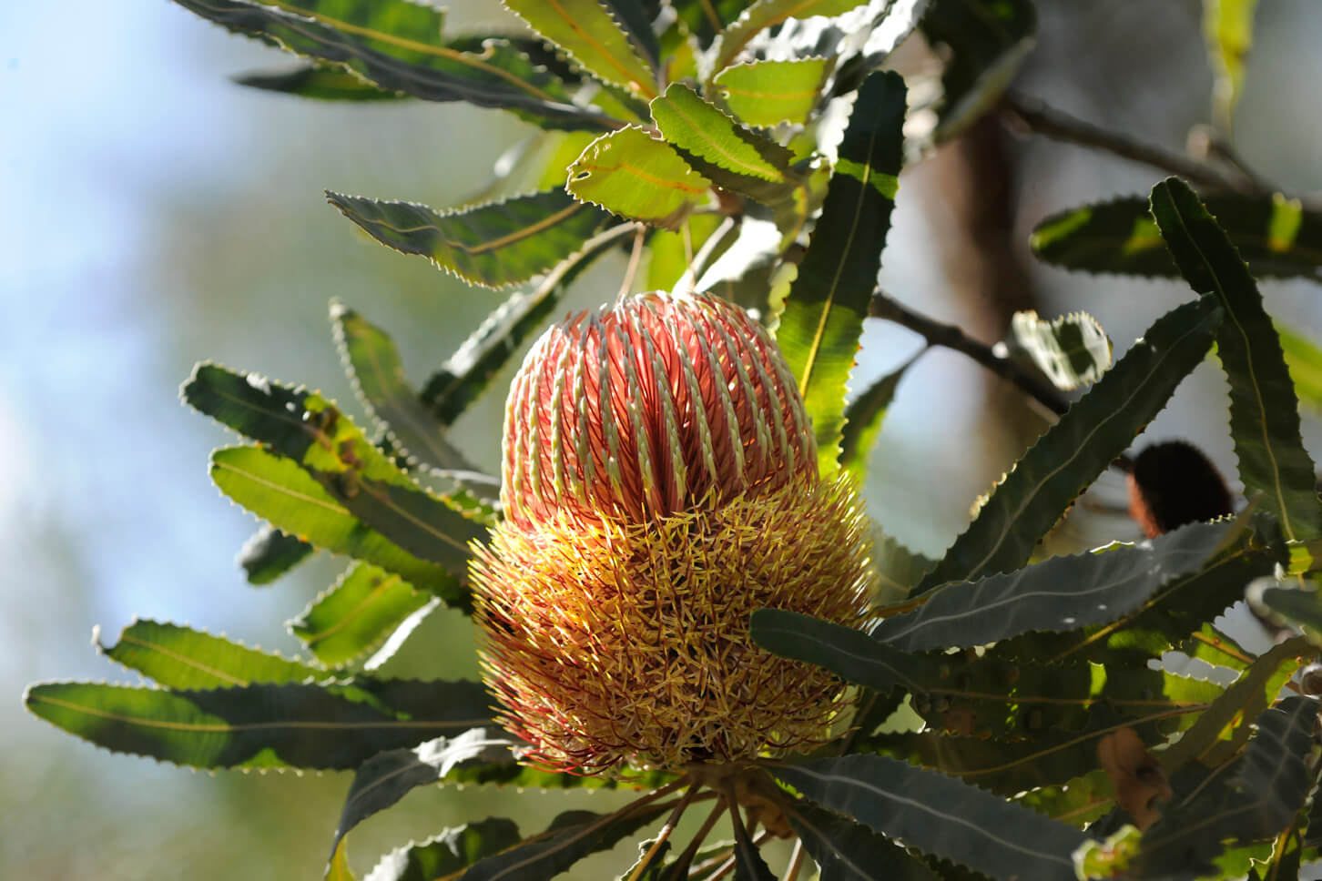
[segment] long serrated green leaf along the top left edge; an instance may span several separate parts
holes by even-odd
[[[608,129],[572,103],[554,75],[508,41],[460,52],[442,38],[443,13],[407,0],[176,0],[225,28],[299,55],[340,63],[377,86],[424,100],[514,111],[549,128]]]

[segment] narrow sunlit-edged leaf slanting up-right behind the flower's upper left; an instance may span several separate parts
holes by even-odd
[[[561,263],[530,293],[516,293],[492,312],[422,390],[422,399],[444,425],[452,424],[485,391],[520,346],[538,330],[561,297],[615,239],[631,230],[621,223],[575,258]]]

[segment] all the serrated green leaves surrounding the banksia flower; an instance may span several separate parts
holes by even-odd
[[[516,289],[420,388],[381,329],[333,305],[370,433],[316,392],[198,366],[184,400],[251,441],[212,457],[217,486],[268,524],[243,551],[249,579],[270,582],[313,548],[349,567],[292,622],[301,659],[137,621],[100,650],[157,687],[44,683],[28,691],[32,712],[111,750],[189,767],[354,770],[327,869],[336,878],[352,877],[342,841],[357,823],[438,782],[644,794],[612,814],[566,812],[530,836],[494,818],[447,829],[386,855],[373,881],[547,878],[666,815],[631,880],[771,878],[758,823],[738,810],[750,791],[761,811],[750,816],[767,831],[788,823],[822,878],[1073,878],[1076,855],[1080,872],[1133,878],[1268,863],[1286,877],[1319,856],[1309,803],[1317,708],[1277,695],[1317,654],[1322,605],[1298,580],[1277,579],[1322,568],[1322,505],[1298,415],[1300,398],[1322,404],[1322,353],[1276,330],[1249,269],[1318,277],[1322,215],[1280,195],[1204,203],[1171,178],[1150,198],[1044,221],[1032,240],[1044,260],[1178,275],[1195,296],[1109,370],[1109,342],[1087,316],[1017,317],[1011,357],[1060,388],[1091,387],[943,559],[878,536],[878,592],[903,600],[878,609],[870,633],[775,610],[754,617],[763,647],[857,686],[850,737],[738,779],[549,774],[518,763],[520,744],[494,724],[480,684],[374,674],[431,610],[469,608],[469,543],[501,516],[497,481],[447,428],[579,273],[632,236],[646,287],[719,288],[775,324],[822,470],[862,474],[903,376],[846,405],[863,320],[882,297],[898,176],[906,157],[995,103],[1031,45],[1032,7],[506,0],[535,36],[448,37],[440,12],[405,0],[178,3],[307,59],[242,78],[249,86],[465,100],[538,125],[524,161],[502,164],[517,169],[494,181],[500,201],[436,211],[328,194],[385,244],[469,284]],[[947,61],[925,90],[932,106],[908,108],[928,124],[906,127],[906,83],[880,67],[915,29]],[[830,120],[846,111],[841,135]],[[1035,561],[1042,536],[1214,345],[1249,510]],[[1263,614],[1305,635],[1257,656],[1220,633],[1214,619],[1251,582]],[[1170,650],[1220,676],[1150,663]],[[715,802],[703,833],[673,849],[673,820],[703,799]],[[707,845],[720,812],[734,841]]]

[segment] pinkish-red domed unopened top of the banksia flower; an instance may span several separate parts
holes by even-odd
[[[715,297],[652,292],[570,316],[510,388],[501,495],[518,523],[642,522],[816,470],[779,349]]]

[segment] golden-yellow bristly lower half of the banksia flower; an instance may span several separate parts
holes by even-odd
[[[865,536],[846,482],[802,478],[649,524],[506,520],[475,567],[505,725],[535,761],[586,773],[822,742],[839,682],[756,647],[748,617],[858,623]]]

